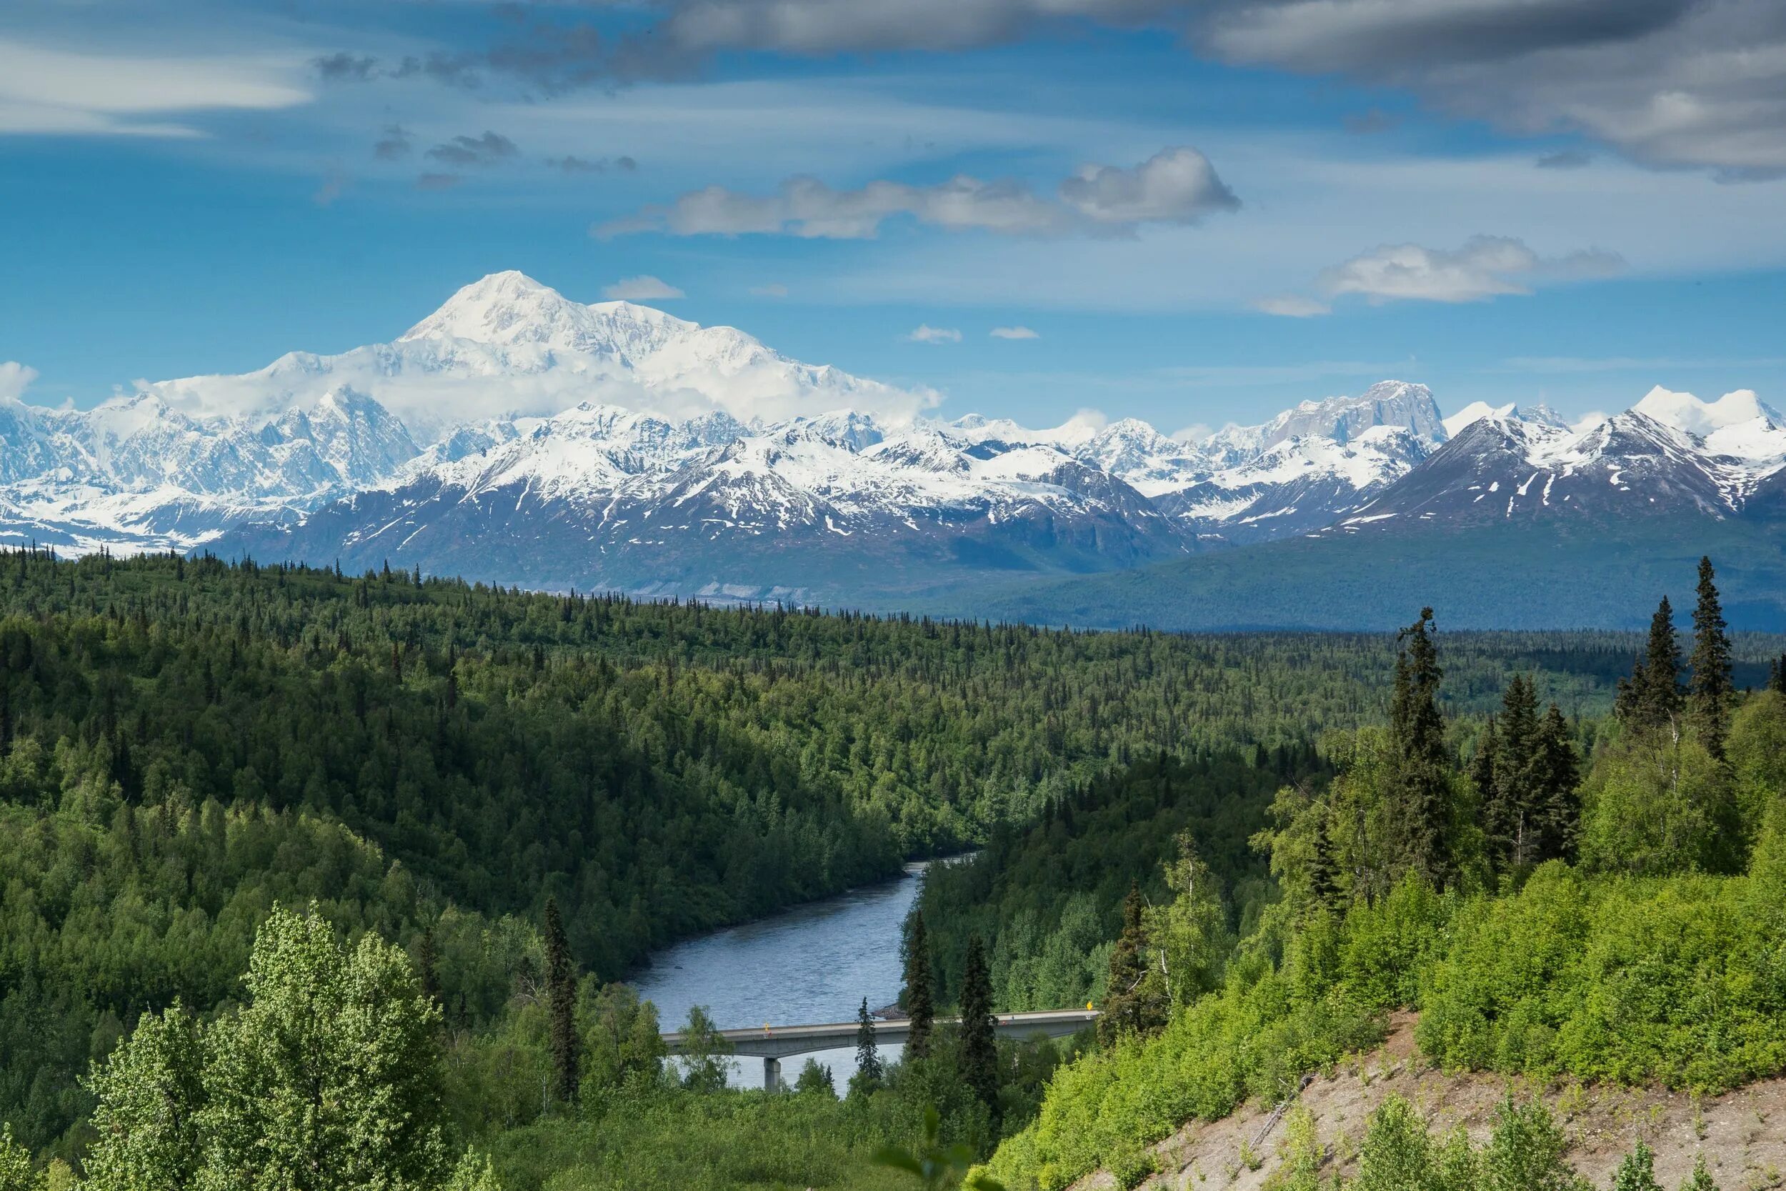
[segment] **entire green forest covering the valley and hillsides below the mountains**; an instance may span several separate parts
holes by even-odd
[[[1693,582],[1177,636],[7,552],[0,1191],[1134,1186],[1245,1104],[1286,1187],[1575,1186],[1531,1087],[1786,1070],[1786,650]],[[897,1062],[864,1002],[729,1089],[629,986],[934,857]],[[1400,1020],[1506,1100],[1341,1154],[1297,1093]]]

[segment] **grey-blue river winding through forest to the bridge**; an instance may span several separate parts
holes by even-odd
[[[688,1021],[693,1005],[705,1005],[723,1030],[850,1021],[864,996],[870,1011],[898,1000],[900,925],[922,880],[923,864],[907,864],[895,880],[679,943],[657,952],[630,984],[657,1005],[664,1030]],[[830,1068],[841,1093],[855,1050],[811,1057]],[[898,1048],[882,1048],[880,1057],[897,1059]],[[804,1062],[805,1055],[786,1061],[782,1079],[791,1084]],[[761,1061],[736,1061],[732,1084],[761,1087]]]

